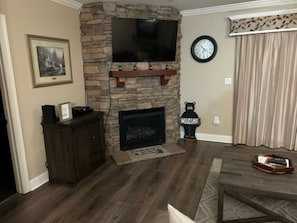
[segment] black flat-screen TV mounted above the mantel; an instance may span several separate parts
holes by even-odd
[[[177,21],[112,19],[113,62],[175,61]]]

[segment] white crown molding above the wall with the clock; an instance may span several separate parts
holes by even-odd
[[[243,9],[270,7],[270,6],[278,6],[278,5],[289,5],[289,4],[296,4],[296,7],[297,7],[297,0],[257,0],[252,2],[243,2],[243,3],[228,4],[228,5],[221,5],[221,6],[182,10],[180,11],[180,13],[182,16],[194,16],[194,15],[202,15],[202,14],[209,14],[209,13],[236,11],[236,10],[243,10]]]

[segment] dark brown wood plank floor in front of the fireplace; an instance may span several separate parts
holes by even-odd
[[[181,141],[186,153],[116,166],[107,162],[75,187],[45,184],[0,204],[1,223],[146,223],[170,203],[194,218],[212,159],[227,144]]]

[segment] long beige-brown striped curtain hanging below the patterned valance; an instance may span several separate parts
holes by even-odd
[[[234,144],[297,150],[297,32],[236,38]]]

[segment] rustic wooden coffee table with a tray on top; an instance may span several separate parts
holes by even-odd
[[[274,153],[290,158],[295,171],[288,174],[269,174],[252,165],[252,159],[259,153]],[[297,153],[285,150],[269,150],[254,148],[225,148],[218,186],[218,218],[217,222],[290,222],[267,208],[249,200],[246,195],[272,197],[282,200],[297,201]],[[223,221],[224,195],[239,200],[253,207],[266,216],[248,219]]]

